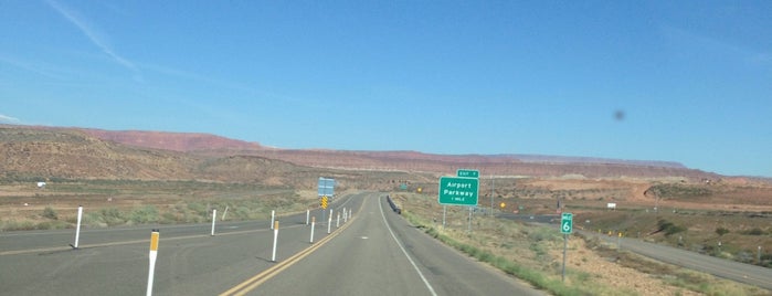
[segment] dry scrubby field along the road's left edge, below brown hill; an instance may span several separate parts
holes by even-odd
[[[147,223],[211,221],[213,209],[229,220],[267,219],[315,207],[316,192],[244,183],[197,181],[82,180],[44,189],[0,184],[0,230],[74,228],[77,207],[83,223],[104,228]]]

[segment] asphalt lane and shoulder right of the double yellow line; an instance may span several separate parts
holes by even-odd
[[[372,193],[347,229],[248,295],[544,295],[451,250]]]

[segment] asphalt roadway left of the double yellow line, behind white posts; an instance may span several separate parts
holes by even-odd
[[[334,207],[358,202],[347,197]],[[277,261],[308,247],[305,220],[305,213],[279,218]],[[88,230],[81,233],[80,250],[67,245],[72,230],[2,233],[0,294],[141,295],[151,228],[160,229],[155,295],[216,295],[276,265],[268,221],[220,223],[215,236],[211,224]],[[315,236],[326,235],[326,222],[319,223]]]

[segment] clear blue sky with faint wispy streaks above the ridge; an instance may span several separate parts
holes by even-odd
[[[772,1],[2,1],[0,123],[772,177]]]

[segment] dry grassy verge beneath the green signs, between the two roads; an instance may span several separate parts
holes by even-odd
[[[435,197],[392,193],[403,214],[430,235],[556,295],[766,295],[753,286],[654,262],[596,240],[569,240],[565,282],[561,281],[563,239],[557,229],[474,215],[442,207]]]

